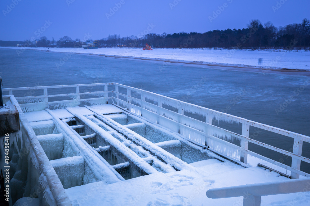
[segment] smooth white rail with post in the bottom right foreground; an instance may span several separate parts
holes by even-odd
[[[243,196],[243,206],[259,206],[261,196],[289,194],[310,191],[310,179],[294,179],[281,182],[248,184],[233,187],[210,189],[208,198],[228,198]]]

